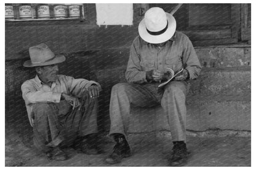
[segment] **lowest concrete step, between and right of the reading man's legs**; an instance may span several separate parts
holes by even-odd
[[[187,129],[233,129],[250,131],[250,94],[188,96]],[[167,117],[161,106],[152,108],[132,107],[130,133],[148,133],[169,130]]]

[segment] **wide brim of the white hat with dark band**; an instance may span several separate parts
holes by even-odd
[[[149,42],[151,44],[159,44],[168,41],[176,31],[176,20],[171,14],[167,12],[166,18],[168,20],[168,28],[164,33],[158,36],[153,36],[150,33],[148,33],[148,31],[146,31],[145,18],[143,18],[143,20],[140,21],[140,24],[138,25],[138,34],[140,34],[140,37],[142,37],[144,41]]]

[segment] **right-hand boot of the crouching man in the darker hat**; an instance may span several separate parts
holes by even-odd
[[[80,142],[80,149],[87,155],[98,155],[102,153],[102,150],[100,150],[97,143],[97,134],[89,134],[84,136]]]

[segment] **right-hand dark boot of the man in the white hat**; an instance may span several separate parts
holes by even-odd
[[[170,166],[183,166],[188,161],[188,152],[186,150],[186,144],[184,142],[174,142],[172,148],[172,159]]]

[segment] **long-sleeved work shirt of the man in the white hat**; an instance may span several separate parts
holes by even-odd
[[[162,47],[143,41],[138,36],[130,47],[130,56],[126,69],[129,83],[148,83],[146,71],[158,69],[174,72],[184,68],[188,70],[190,79],[196,79],[201,72],[201,64],[194,47],[188,37],[178,31]]]

